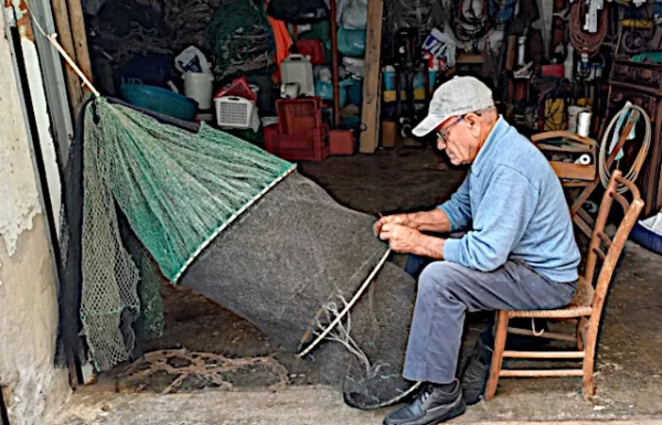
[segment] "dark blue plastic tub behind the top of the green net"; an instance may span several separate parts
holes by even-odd
[[[195,118],[197,102],[166,88],[142,84],[121,85],[121,96],[131,105],[186,121]]]

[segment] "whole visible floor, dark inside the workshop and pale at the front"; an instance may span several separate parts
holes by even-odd
[[[309,176],[342,204],[367,213],[412,211],[446,199],[462,179],[431,150],[383,151],[307,163]],[[96,385],[78,391],[53,425],[83,424],[380,424],[388,410],[345,406],[339,391],[320,385],[310,363],[296,360],[245,320],[185,289],[167,293],[167,329],[149,349],[185,347],[228,357],[270,355],[290,376],[276,392],[250,385],[234,391],[161,395],[162,386],[139,394]],[[662,257],[628,243],[605,309],[594,404],[579,394],[580,380],[503,379],[498,396],[468,410],[455,423],[513,421],[639,421],[662,424]],[[487,327],[470,318],[468,346]],[[222,329],[222,331],[220,331]],[[305,376],[302,379],[302,376]],[[577,423],[579,424],[579,423]]]

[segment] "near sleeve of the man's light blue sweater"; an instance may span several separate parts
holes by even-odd
[[[533,217],[538,196],[526,177],[506,166],[498,166],[487,180],[473,231],[444,245],[445,259],[481,272],[505,264]]]

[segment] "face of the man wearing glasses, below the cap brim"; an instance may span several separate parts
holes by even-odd
[[[450,117],[437,127],[437,148],[446,150],[453,166],[471,163],[478,155],[476,138],[468,124],[467,116],[462,115]]]

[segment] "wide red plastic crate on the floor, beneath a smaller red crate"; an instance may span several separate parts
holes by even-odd
[[[265,128],[265,149],[290,161],[323,161],[329,156],[328,127],[306,135],[284,135],[278,126]]]

